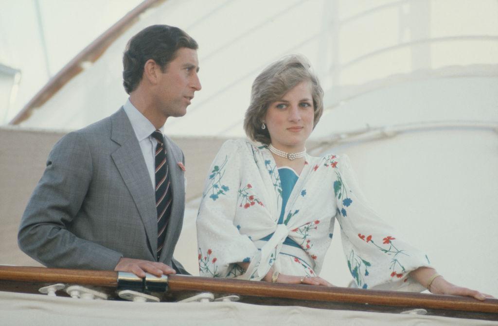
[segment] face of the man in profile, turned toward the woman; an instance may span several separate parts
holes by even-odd
[[[198,71],[197,51],[189,48],[178,49],[175,59],[166,65],[164,72],[158,70],[155,106],[165,118],[187,113],[195,91],[201,89]]]

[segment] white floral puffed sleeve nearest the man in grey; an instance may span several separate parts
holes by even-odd
[[[236,263],[249,262],[257,253],[250,237],[234,223],[245,159],[242,146],[225,142],[209,170],[197,217],[201,276],[240,276],[244,270]]]

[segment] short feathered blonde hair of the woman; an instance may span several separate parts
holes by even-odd
[[[311,84],[315,128],[323,113],[323,89],[308,60],[301,55],[290,55],[266,67],[252,83],[250,104],[244,118],[244,130],[250,139],[263,144],[271,142],[268,129],[261,129],[266,110],[304,81]]]

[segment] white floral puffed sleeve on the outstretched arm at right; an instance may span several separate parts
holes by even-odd
[[[347,156],[337,160],[334,197],[336,218],[349,270],[360,288],[422,291],[408,273],[429,266],[427,256],[406,243],[384,222],[360,192]]]

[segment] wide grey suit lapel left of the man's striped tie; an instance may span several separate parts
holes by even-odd
[[[111,154],[142,219],[147,241],[155,257],[157,251],[157,212],[155,194],[138,140],[124,109],[112,115],[111,139],[121,145]],[[128,217],[130,218],[130,217]]]

